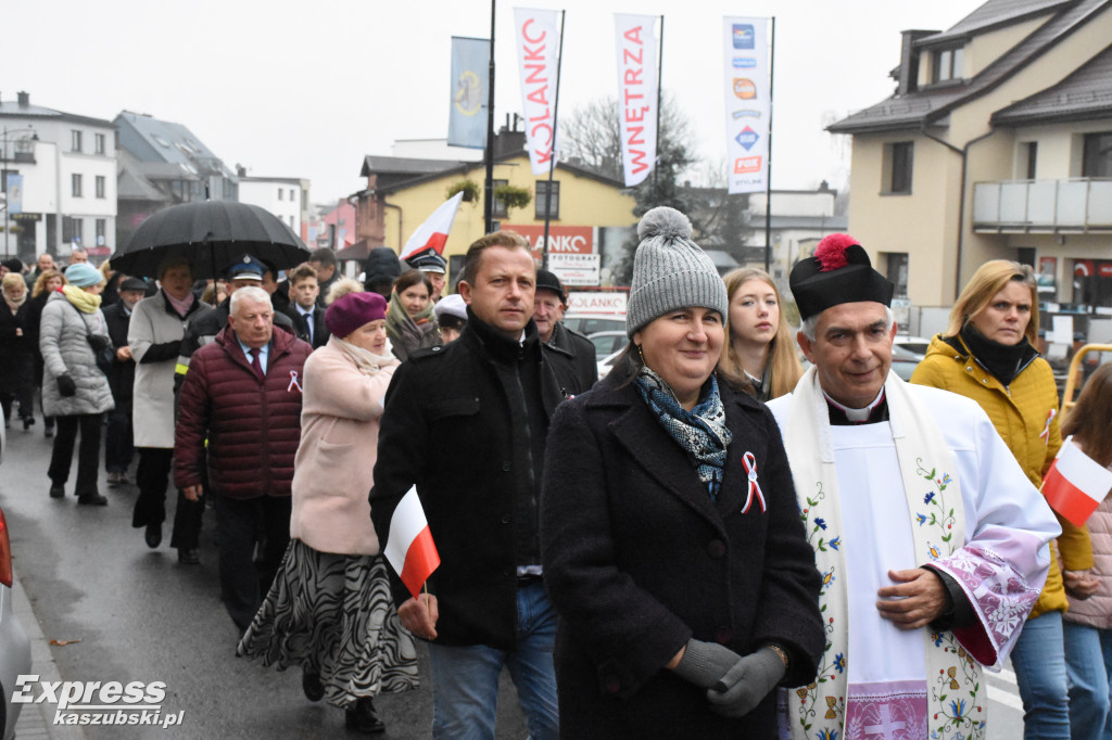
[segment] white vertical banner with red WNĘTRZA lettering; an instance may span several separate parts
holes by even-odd
[[[618,129],[627,188],[656,167],[656,16],[614,14],[618,51]]]

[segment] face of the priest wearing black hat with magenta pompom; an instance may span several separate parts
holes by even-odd
[[[838,403],[863,409],[876,398],[892,367],[895,322],[883,303],[834,306],[818,314],[814,341],[800,332],[800,347],[818,371],[823,390]]]

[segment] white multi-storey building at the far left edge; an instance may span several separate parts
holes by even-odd
[[[116,249],[116,129],[111,121],[0,100],[6,196],[3,250],[33,262],[75,246]]]

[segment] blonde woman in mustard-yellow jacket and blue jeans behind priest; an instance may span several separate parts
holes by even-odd
[[[1050,364],[1032,342],[1039,303],[1031,268],[993,260],[974,273],[950,312],[945,334],[931,341],[911,381],[973,399],[985,410],[1012,454],[1039,487],[1062,434],[1058,388]],[[1089,533],[1059,517],[1065,571],[1093,566]],[[1012,651],[1024,709],[1024,738],[1070,740],[1069,694],[1062,638],[1068,608],[1058,559]],[[1094,660],[1100,654],[1094,656]]]

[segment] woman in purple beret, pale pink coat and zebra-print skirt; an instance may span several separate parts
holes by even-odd
[[[344,296],[325,323],[331,337],[305,363],[289,549],[238,652],[279,670],[300,664],[309,700],[327,697],[348,729],[377,733],[385,727],[373,697],[417,687],[414,640],[395,611],[367,502],[398,360],[378,293]]]

